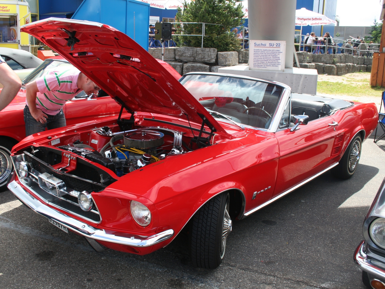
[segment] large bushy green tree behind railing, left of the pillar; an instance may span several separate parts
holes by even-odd
[[[204,22],[221,25],[205,25],[203,47],[216,48],[218,51],[236,51],[240,41],[230,32],[233,27],[243,24],[242,6],[236,0],[195,0],[184,2],[176,14],[176,22]],[[202,34],[202,24],[177,25],[182,34]],[[201,36],[180,36],[177,42],[181,46],[201,47]]]

